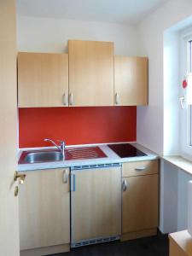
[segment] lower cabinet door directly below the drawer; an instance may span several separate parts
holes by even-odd
[[[158,174],[123,178],[123,234],[158,226],[158,184]]]

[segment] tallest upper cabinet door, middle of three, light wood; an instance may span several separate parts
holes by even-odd
[[[113,106],[113,43],[69,41],[69,105]]]

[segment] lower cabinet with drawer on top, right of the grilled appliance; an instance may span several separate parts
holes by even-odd
[[[158,227],[158,160],[123,164],[122,237],[152,236]]]

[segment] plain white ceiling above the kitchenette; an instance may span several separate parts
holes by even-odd
[[[16,0],[18,15],[136,24],[168,0]]]

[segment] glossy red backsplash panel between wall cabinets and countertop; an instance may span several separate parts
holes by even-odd
[[[67,145],[132,142],[136,126],[136,107],[19,109],[20,148],[51,145],[45,137]]]

